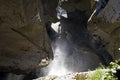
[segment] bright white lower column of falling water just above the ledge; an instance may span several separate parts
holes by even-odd
[[[54,60],[50,64],[50,72],[48,75],[65,75],[67,73],[70,73],[65,68],[65,51],[61,49],[60,44],[56,45],[55,51],[54,51]]]

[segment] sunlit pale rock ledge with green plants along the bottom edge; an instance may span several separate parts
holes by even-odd
[[[111,66],[111,67],[110,67]],[[111,62],[109,67],[98,68],[94,71],[76,72],[66,75],[50,75],[33,80],[119,80],[120,65]]]

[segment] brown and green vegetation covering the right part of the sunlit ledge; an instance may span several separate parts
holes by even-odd
[[[75,75],[75,80],[118,80],[114,75],[116,70],[120,69],[120,65],[117,62],[111,62],[108,67],[103,65],[95,71],[89,71],[87,74]]]

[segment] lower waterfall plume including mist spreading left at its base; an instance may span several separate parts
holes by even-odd
[[[43,69],[41,69],[41,74],[43,76],[61,76],[65,74],[72,73],[66,67],[65,59],[66,55],[66,43],[63,42],[62,39],[58,38],[53,44],[52,49],[54,53],[54,60],[52,60],[49,65]]]

